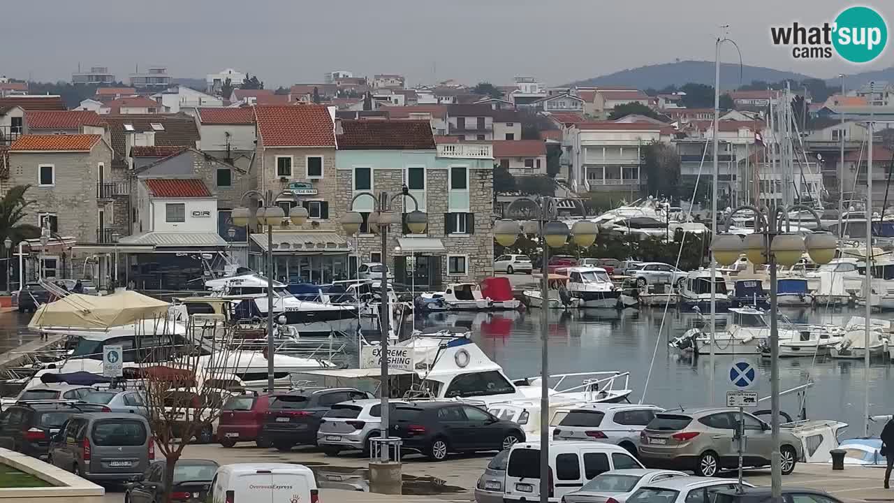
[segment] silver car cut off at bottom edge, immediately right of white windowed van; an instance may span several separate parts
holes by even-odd
[[[611,470],[596,475],[592,481],[586,482],[584,487],[569,492],[561,500],[562,503],[608,503],[611,499],[617,503],[624,503],[631,494],[644,485],[673,477],[687,476],[683,472],[648,468]]]

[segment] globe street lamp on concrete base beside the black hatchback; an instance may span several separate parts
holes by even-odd
[[[375,211],[367,217],[367,228],[375,234],[382,236],[382,294],[381,294],[381,315],[379,326],[382,328],[382,337],[380,342],[380,353],[382,354],[380,362],[380,372],[382,380],[382,412],[381,412],[381,429],[379,438],[384,444],[379,449],[380,462],[387,463],[390,460],[390,438],[388,436],[388,399],[391,395],[391,387],[388,384],[388,333],[391,330],[391,311],[388,305],[388,229],[392,224],[401,224],[401,218],[390,208],[393,200],[399,197],[409,197],[413,200],[415,209],[407,213],[403,218],[410,234],[424,234],[428,226],[428,217],[426,213],[419,211],[419,201],[409,193],[407,185],[401,187],[401,192],[390,195],[388,192],[379,192],[378,199],[372,192],[358,192],[353,199],[350,200],[348,208],[350,211],[342,217],[342,228],[348,235],[357,234],[360,226],[363,224],[363,216],[354,211],[354,201],[359,197],[366,196],[373,199],[373,207]],[[401,460],[398,459],[398,462]]]

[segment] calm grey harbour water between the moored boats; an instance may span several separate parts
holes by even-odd
[[[472,328],[475,340],[495,362],[502,365],[510,378],[536,375],[540,369],[540,310],[510,313],[438,313],[418,319],[417,325],[464,326]],[[676,407],[704,405],[708,402],[710,357],[693,359],[671,351],[669,338],[681,335],[697,322],[694,314],[670,310],[662,327],[661,309],[642,311],[585,310],[573,313],[550,313],[549,350],[550,372],[574,371],[630,371],[633,401],[645,394],[645,402]],[[786,311],[789,320],[797,322],[826,322],[844,324],[863,310]],[[718,315],[725,317],[725,315]],[[875,315],[873,318],[891,318]],[[656,342],[657,347],[656,347]],[[652,377],[645,387],[649,365],[654,354]],[[714,404],[725,400],[731,356],[717,356],[713,371]],[[770,364],[768,360],[752,359],[762,369],[757,387],[761,397],[770,396]],[[781,388],[804,384],[808,377],[814,387],[807,394],[807,414],[812,419],[835,419],[851,426],[846,435],[857,436],[863,424],[863,361],[832,360],[828,356],[782,359],[780,361]],[[891,366],[881,360],[873,361],[869,369],[870,413],[894,413],[894,393],[891,392]],[[794,395],[782,397],[782,410],[793,417],[798,403]],[[770,408],[770,400],[761,403]],[[870,423],[874,434],[882,424]]]

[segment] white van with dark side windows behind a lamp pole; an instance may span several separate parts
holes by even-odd
[[[602,442],[553,441],[549,454],[549,500],[555,502],[600,473],[645,468],[627,449]],[[510,449],[503,501],[539,500],[540,442],[519,442]]]

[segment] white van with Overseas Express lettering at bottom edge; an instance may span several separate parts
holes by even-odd
[[[287,463],[237,463],[217,469],[207,501],[211,503],[317,503],[310,468]]]

